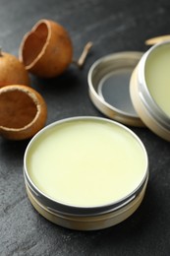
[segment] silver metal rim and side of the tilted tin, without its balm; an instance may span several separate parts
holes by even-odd
[[[161,45],[170,41],[161,42],[146,51],[133,72],[130,82],[130,94],[133,104],[142,118],[143,123],[161,138],[170,141],[170,117],[159,107],[149,93],[145,82],[145,62],[149,54]]]

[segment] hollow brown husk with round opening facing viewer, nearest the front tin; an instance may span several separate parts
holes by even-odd
[[[42,96],[27,86],[0,89],[0,135],[9,140],[25,140],[45,124],[47,107]]]

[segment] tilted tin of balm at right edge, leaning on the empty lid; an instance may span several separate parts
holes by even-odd
[[[142,122],[170,141],[170,41],[152,46],[134,70],[130,91]]]

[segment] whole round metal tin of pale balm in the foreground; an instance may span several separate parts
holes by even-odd
[[[44,218],[94,230],[119,224],[139,208],[148,159],[141,140],[124,125],[74,117],[52,123],[32,138],[24,175],[28,198]]]

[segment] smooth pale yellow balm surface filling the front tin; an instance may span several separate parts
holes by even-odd
[[[124,126],[76,119],[41,133],[29,147],[26,166],[32,183],[51,199],[95,207],[134,192],[147,159],[140,140]]]

